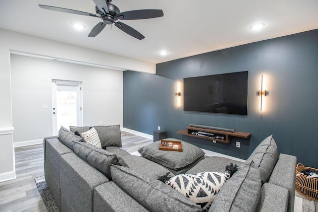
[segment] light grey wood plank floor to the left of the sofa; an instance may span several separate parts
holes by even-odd
[[[34,182],[44,175],[43,144],[16,147],[16,179],[0,183],[1,212],[46,212]]]

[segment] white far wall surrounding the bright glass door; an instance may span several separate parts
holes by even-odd
[[[13,142],[53,136],[52,79],[82,81],[84,126],[123,125],[123,71],[20,55],[10,60]]]

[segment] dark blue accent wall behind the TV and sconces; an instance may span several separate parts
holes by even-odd
[[[175,106],[175,82],[184,77],[248,71],[247,116],[195,113]],[[268,91],[260,111],[261,75]],[[181,90],[181,97],[182,97]],[[280,153],[318,167],[318,30],[255,42],[157,64],[157,74],[124,71],[124,127],[153,134],[160,126],[168,137],[246,159],[273,135]],[[189,124],[233,128],[250,139],[230,143],[176,134]],[[241,141],[241,147],[235,147]]]

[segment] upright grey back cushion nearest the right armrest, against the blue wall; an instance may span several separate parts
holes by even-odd
[[[273,136],[262,141],[249,156],[247,161],[254,161],[260,170],[262,183],[268,181],[278,158],[277,145]]]

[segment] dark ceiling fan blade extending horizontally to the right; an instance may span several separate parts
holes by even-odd
[[[114,18],[121,20],[137,20],[137,19],[148,19],[157,18],[163,16],[161,9],[140,9],[131,10],[126,12],[119,12]]]

